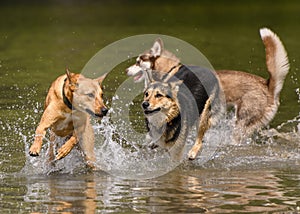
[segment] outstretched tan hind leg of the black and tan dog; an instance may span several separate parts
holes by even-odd
[[[194,146],[188,153],[188,158],[190,160],[194,160],[202,147],[202,140],[204,137],[205,132],[210,128],[211,121],[210,121],[210,107],[211,107],[211,97],[206,101],[204,109],[200,116],[200,122],[198,126],[198,133],[197,139]]]

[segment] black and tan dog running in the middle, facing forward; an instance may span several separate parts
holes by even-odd
[[[155,81],[147,72],[142,107],[151,147],[167,149],[180,159],[190,128],[197,124],[196,141],[188,158],[196,158],[205,132],[224,113],[224,98],[215,73],[195,66],[180,66],[174,76]]]

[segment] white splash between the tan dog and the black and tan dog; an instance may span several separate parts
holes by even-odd
[[[150,149],[145,145],[145,135],[132,135],[132,127],[124,121],[104,118],[96,130],[97,166],[114,175],[127,179],[154,178],[180,164],[167,151]]]

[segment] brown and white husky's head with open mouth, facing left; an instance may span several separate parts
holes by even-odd
[[[145,79],[145,71],[157,70],[167,73],[179,62],[174,54],[164,49],[163,41],[158,38],[150,50],[140,54],[136,63],[126,69],[126,73],[128,76],[134,76],[135,82],[141,82]]]

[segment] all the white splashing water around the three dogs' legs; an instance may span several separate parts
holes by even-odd
[[[299,93],[298,93],[299,95]],[[114,98],[118,99],[118,98]],[[300,99],[300,98],[299,98]],[[40,104],[34,104],[34,112],[41,112]],[[205,168],[245,168],[264,167],[277,165],[278,161],[287,164],[300,159],[300,113],[291,120],[283,122],[272,129],[265,129],[258,135],[248,139],[246,143],[234,143],[231,134],[233,132],[234,118],[227,119],[208,130],[205,134],[203,149],[197,159],[186,161],[187,153],[192,147],[196,135],[195,128],[186,140],[184,158],[174,161],[166,151],[150,149],[145,145],[145,134],[135,132],[128,121],[119,117],[111,120],[112,115],[123,115],[125,109],[111,108],[109,115],[104,117],[101,123],[93,122],[96,142],[96,167],[117,177],[126,179],[148,179],[161,176],[180,165],[192,164]],[[29,120],[36,120],[36,115],[27,114]],[[137,118],[143,120],[143,118]],[[295,129],[290,132],[282,132],[285,126],[293,125]],[[16,128],[18,127],[18,128]],[[48,161],[49,140],[45,137],[45,143],[39,157],[28,155],[29,144],[33,141],[33,134],[25,131],[26,127],[10,125],[7,129],[13,130],[22,137],[25,144],[26,163],[22,169],[25,174],[76,174],[87,173],[89,170],[84,163],[82,153],[74,148],[71,153],[55,163]],[[64,138],[58,138],[62,145]]]

